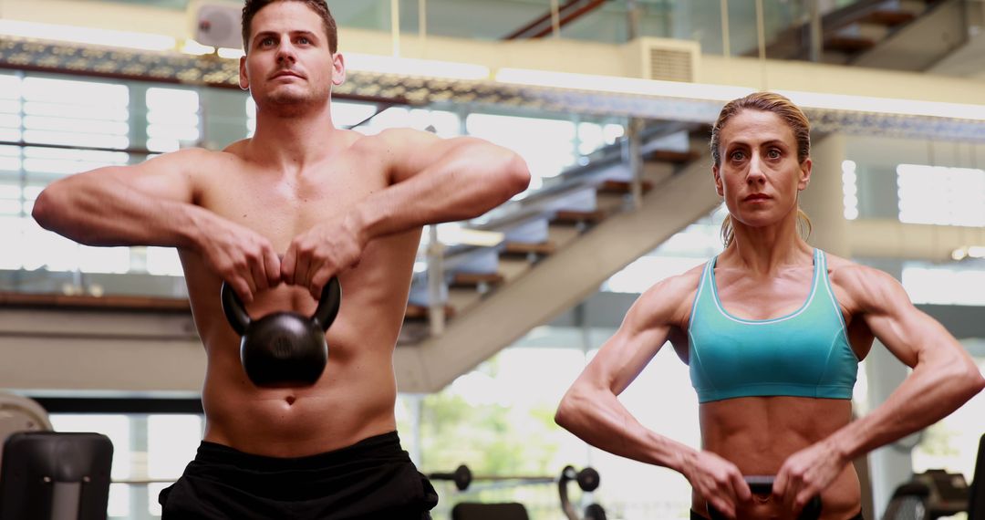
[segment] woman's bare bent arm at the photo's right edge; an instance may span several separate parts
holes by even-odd
[[[865,320],[889,352],[913,370],[871,413],[787,459],[773,492],[795,502],[795,510],[852,460],[944,419],[985,387],[974,360],[892,277],[852,266],[846,278],[844,287],[853,288],[858,306],[856,319]]]

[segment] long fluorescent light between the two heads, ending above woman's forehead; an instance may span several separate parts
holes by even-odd
[[[713,101],[728,101],[754,92],[754,89],[748,87],[733,87],[730,85],[667,82],[623,78],[620,76],[598,76],[594,74],[573,74],[568,72],[512,68],[499,69],[495,74],[495,81],[531,87],[575,89],[644,96],[683,97]]]

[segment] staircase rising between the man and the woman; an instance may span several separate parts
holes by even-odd
[[[469,224],[496,243],[424,247],[396,354],[401,391],[439,390],[718,204],[710,154],[695,152],[707,149],[706,126],[641,132],[635,175],[627,141]]]

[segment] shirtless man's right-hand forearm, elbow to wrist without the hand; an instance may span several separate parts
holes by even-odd
[[[366,240],[483,215],[525,189],[527,165],[486,144],[454,149],[418,175],[376,192],[352,216]]]

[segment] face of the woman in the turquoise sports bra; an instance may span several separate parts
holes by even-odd
[[[719,132],[715,187],[732,218],[751,227],[797,216],[797,194],[811,179],[811,160],[797,161],[793,130],[773,112],[742,110]]]

